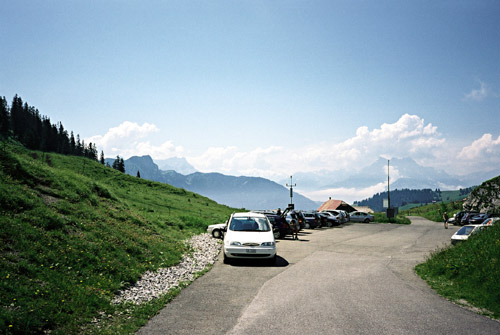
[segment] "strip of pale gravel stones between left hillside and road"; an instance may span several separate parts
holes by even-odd
[[[181,281],[194,280],[195,273],[215,263],[222,246],[220,241],[206,233],[193,236],[188,241],[193,249],[192,255],[184,256],[176,266],[144,273],[135,285],[120,291],[112,302],[114,304],[132,302],[139,305],[160,297],[178,286]]]

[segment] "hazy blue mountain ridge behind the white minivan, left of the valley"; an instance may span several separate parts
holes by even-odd
[[[114,159],[106,159],[113,164]],[[285,208],[290,202],[290,191],[282,185],[260,177],[234,177],[220,173],[181,174],[173,170],[163,171],[146,155],[133,156],[125,160],[125,172],[141,178],[167,183],[175,187],[199,193],[218,203],[235,208],[277,209]],[[298,209],[313,210],[319,204],[294,193],[293,203]]]

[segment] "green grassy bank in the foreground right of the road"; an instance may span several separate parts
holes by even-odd
[[[436,251],[415,270],[438,294],[500,318],[500,225]]]

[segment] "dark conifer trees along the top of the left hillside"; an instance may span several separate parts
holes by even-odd
[[[0,138],[12,137],[26,148],[63,155],[82,156],[104,164],[104,152],[98,159],[94,143],[85,143],[73,131],[64,129],[62,122],[52,124],[37,108],[23,102],[17,94],[9,106],[5,96],[0,97]],[[125,172],[123,159],[117,156],[113,168]]]

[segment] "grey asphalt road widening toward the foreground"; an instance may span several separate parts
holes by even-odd
[[[458,227],[411,220],[304,231],[273,267],[220,255],[138,334],[500,334],[413,272]]]

